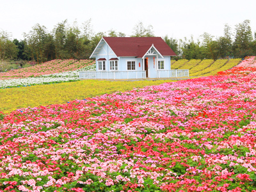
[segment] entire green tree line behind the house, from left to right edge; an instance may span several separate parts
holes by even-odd
[[[113,29],[93,33],[91,20],[81,26],[67,20],[59,22],[52,31],[36,24],[31,31],[24,33],[23,40],[11,39],[10,33],[0,31],[0,60],[28,60],[43,63],[55,59],[88,59],[102,36],[127,36]],[[155,36],[153,27],[139,22],[130,36]],[[256,55],[256,32],[253,34],[250,20],[244,20],[232,29],[225,24],[223,36],[216,37],[204,33],[197,40],[163,37],[177,54],[176,60],[244,58]]]

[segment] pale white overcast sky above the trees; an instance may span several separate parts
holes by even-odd
[[[222,36],[225,24],[233,29],[248,19],[256,31],[255,0],[0,0],[0,31],[22,40],[35,24],[52,31],[67,19],[78,26],[92,19],[95,33],[114,29],[132,35],[138,22],[153,26],[154,35],[184,39],[204,32]]]

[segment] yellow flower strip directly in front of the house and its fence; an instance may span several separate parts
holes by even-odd
[[[97,81],[84,80],[69,83],[43,84],[0,90],[0,111],[61,104],[70,100],[95,97],[105,93],[124,92],[132,88],[157,85],[173,80],[159,81]]]

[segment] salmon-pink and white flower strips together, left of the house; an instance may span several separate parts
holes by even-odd
[[[52,60],[33,67],[0,73],[0,88],[78,81],[81,70],[95,70],[93,60]]]

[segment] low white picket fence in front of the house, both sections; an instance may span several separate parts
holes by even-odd
[[[158,70],[157,78],[164,77],[189,77],[189,70]],[[146,71],[80,71],[79,79],[146,79]]]

